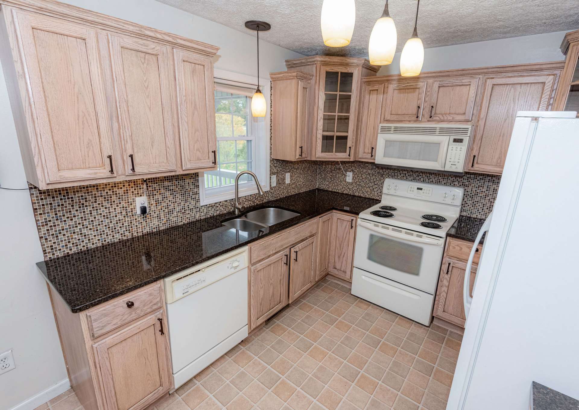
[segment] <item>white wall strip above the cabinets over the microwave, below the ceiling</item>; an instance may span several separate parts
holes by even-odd
[[[565,33],[557,31],[424,49],[422,71],[565,60],[559,50]],[[400,52],[402,50],[395,54],[392,64],[380,68],[378,75],[400,74]]]

